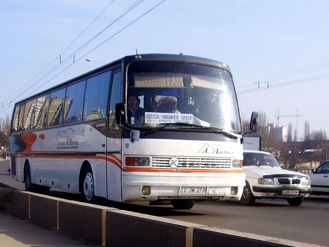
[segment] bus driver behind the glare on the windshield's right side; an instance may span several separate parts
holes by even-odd
[[[219,106],[216,102],[217,96],[218,93],[216,91],[209,92],[193,115],[203,121],[213,122],[215,117],[219,115]]]

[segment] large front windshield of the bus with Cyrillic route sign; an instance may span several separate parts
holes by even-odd
[[[233,79],[224,69],[138,61],[128,67],[127,78],[127,118],[132,126],[185,123],[185,128],[197,125],[241,132]]]

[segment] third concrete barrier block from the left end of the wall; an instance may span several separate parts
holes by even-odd
[[[106,211],[118,210],[77,201],[59,202],[59,229],[70,235],[105,245]]]

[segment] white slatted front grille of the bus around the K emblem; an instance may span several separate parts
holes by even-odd
[[[156,168],[170,168],[169,159],[172,157],[153,156],[152,167]],[[206,157],[180,157],[176,156],[179,160],[179,168],[188,169],[230,169],[231,159],[227,158],[206,158]]]

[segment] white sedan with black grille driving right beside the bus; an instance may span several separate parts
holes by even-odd
[[[246,185],[241,204],[250,205],[260,198],[282,198],[298,206],[312,192],[308,175],[282,169],[270,153],[244,150],[242,168]]]

